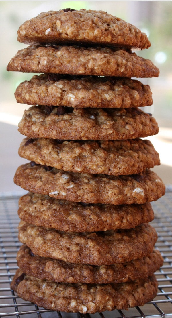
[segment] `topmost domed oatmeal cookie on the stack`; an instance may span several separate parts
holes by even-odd
[[[150,41],[134,25],[104,11],[70,10],[42,12],[24,22],[18,41],[35,43],[95,43],[146,49]]]

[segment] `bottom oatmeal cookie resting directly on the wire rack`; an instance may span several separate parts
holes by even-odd
[[[20,269],[11,283],[25,301],[50,310],[82,314],[143,306],[156,296],[157,286],[155,275],[121,284],[58,284],[25,275]]]

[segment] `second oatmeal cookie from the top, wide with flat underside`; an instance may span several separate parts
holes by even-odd
[[[19,50],[7,71],[75,75],[158,77],[158,68],[136,53],[107,47],[31,45]]]

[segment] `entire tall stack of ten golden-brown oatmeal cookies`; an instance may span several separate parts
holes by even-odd
[[[146,34],[104,11],[60,10],[26,21],[18,40],[30,44],[9,71],[42,73],[16,89],[26,138],[14,182],[19,200],[20,269],[11,287],[38,306],[95,313],[142,306],[157,292],[162,266],[149,224],[164,195],[150,170],[159,156],[147,137],[155,119],[150,87],[131,77],[157,77],[131,49]]]

